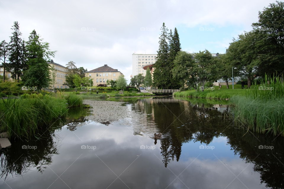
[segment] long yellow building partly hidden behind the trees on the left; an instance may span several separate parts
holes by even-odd
[[[48,62],[49,66],[51,66],[51,68],[54,68],[54,70],[50,70],[51,72],[51,87],[53,88],[57,88],[57,89],[67,89],[69,88],[68,85],[66,84],[66,76],[67,76],[67,72],[68,69],[65,66],[62,66],[58,63],[53,62],[53,60],[50,60],[50,62]],[[55,78],[53,78],[53,74],[55,74]],[[54,83],[53,83],[54,82]]]

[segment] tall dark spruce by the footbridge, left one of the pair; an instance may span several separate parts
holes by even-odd
[[[154,64],[153,82],[156,87],[167,89],[170,86],[170,67],[168,66],[169,45],[167,42],[169,36],[165,23],[163,23],[161,31],[157,61]]]

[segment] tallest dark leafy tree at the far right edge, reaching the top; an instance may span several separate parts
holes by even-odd
[[[260,65],[259,76],[265,73],[279,75],[284,70],[284,2],[276,1],[259,11],[258,22],[253,23],[254,31],[261,36],[256,42]]]

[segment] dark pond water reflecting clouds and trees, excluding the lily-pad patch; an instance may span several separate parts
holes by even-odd
[[[284,188],[283,137],[234,128],[226,102],[109,100],[131,116],[104,125],[72,110],[44,139],[3,150],[0,188]]]

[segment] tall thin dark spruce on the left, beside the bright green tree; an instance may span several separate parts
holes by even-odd
[[[12,78],[17,79],[19,82],[20,76],[22,75],[22,64],[23,61],[23,41],[20,38],[22,33],[20,32],[19,23],[14,22],[14,25],[11,28],[13,30],[12,36],[10,37],[9,50],[10,56],[9,61],[11,65]]]

